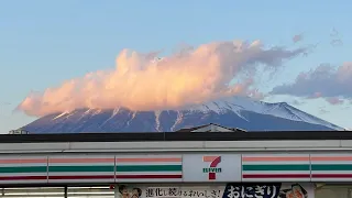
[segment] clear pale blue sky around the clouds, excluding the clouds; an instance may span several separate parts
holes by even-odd
[[[351,62],[352,1],[318,0],[2,0],[0,2],[0,133],[34,118],[12,110],[31,90],[43,90],[88,72],[111,68],[122,48],[172,51],[179,43],[262,40],[293,46],[320,42],[308,57],[287,63],[274,84],[293,80],[321,63]],[[332,29],[343,46],[330,45]],[[292,101],[275,97],[272,101]],[[310,100],[297,106],[352,128],[351,109]],[[321,108],[324,112],[321,111]]]

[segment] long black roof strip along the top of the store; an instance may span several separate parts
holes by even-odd
[[[1,134],[0,143],[41,142],[155,142],[155,141],[270,141],[270,140],[352,140],[352,131],[277,132],[151,132],[151,133],[73,133]]]

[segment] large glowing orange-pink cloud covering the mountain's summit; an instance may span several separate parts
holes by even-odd
[[[161,110],[224,96],[253,95],[258,64],[276,68],[283,61],[304,52],[305,48],[265,48],[260,41],[231,41],[187,47],[156,61],[158,53],[123,50],[114,69],[89,73],[58,87],[31,94],[18,109],[31,116],[80,108]],[[230,85],[233,78],[242,79],[241,74],[251,76]]]

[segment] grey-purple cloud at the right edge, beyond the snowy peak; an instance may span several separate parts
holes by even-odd
[[[340,67],[322,64],[308,73],[301,73],[293,84],[280,85],[274,95],[292,95],[306,98],[324,98],[333,105],[352,99],[352,62]]]

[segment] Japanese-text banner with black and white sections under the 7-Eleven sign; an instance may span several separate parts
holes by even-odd
[[[314,198],[309,183],[230,183],[224,185],[120,185],[121,198]]]

